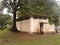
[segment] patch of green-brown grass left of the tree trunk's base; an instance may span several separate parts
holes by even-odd
[[[2,38],[2,39],[14,39],[14,38],[17,38],[17,35],[13,32],[9,32],[6,30],[3,30],[3,31],[0,30],[0,38]]]

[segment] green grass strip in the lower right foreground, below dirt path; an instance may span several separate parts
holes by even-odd
[[[60,45],[60,39],[57,37],[39,38],[35,40],[17,41],[4,45]]]

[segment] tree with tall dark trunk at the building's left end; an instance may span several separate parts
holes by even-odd
[[[16,28],[16,13],[17,11],[23,7],[25,4],[25,0],[3,0],[3,6],[8,8],[10,12],[13,13],[13,30],[17,31]]]

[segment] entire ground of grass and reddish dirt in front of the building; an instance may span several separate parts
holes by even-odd
[[[0,31],[0,45],[60,45],[60,34],[30,35]]]

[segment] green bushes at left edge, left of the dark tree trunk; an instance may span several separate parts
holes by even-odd
[[[7,28],[7,24],[12,24],[12,17],[10,15],[0,14],[0,29]]]

